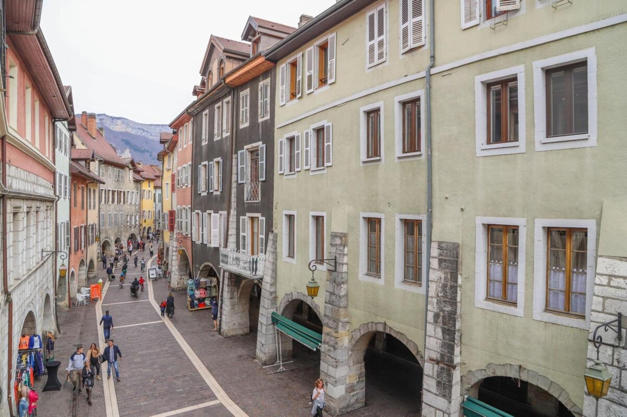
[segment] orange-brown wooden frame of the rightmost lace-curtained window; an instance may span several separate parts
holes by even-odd
[[[566,277],[564,278],[566,280],[565,285],[564,285],[564,310],[557,310],[557,309],[551,309],[549,308],[549,279],[550,279],[550,274],[551,274],[551,230],[566,230],[566,248],[564,249],[566,251],[566,257],[564,258],[564,265],[566,266]],[[586,312],[584,311],[583,313],[577,313],[577,312],[572,312],[571,310],[571,281],[572,281],[572,232],[586,232],[586,268],[587,268],[587,251],[588,249],[588,239],[587,239],[587,232],[588,229],[586,227],[547,227],[546,230],[546,234],[547,234],[547,264],[546,264],[546,282],[545,282],[545,304],[544,304],[544,309],[546,311],[550,311],[550,312],[554,312],[556,314],[561,314],[563,316],[568,316],[568,317],[577,317],[577,318],[584,318],[586,317]],[[559,248],[554,249],[554,250],[561,250]],[[576,252],[581,252],[579,250],[576,250]],[[587,272],[586,272],[586,279],[587,279]],[[581,293],[581,292],[577,292],[576,294],[584,294],[584,296],[587,297],[587,287],[586,287],[586,292]],[[586,299],[587,302],[587,299]]]

